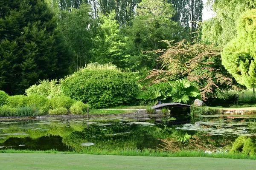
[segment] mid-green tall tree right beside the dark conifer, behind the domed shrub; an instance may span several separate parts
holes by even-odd
[[[76,54],[76,67],[84,67],[90,62],[93,37],[97,31],[97,20],[93,19],[90,6],[83,4],[79,9],[62,11],[59,28],[65,40]]]

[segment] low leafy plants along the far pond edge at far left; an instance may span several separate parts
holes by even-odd
[[[13,108],[8,105],[0,107],[0,116],[38,116],[39,110],[35,107]]]

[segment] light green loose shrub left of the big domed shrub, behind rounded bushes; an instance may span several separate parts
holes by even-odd
[[[55,96],[62,96],[62,92],[61,92],[61,85],[59,83],[58,80],[53,79],[50,80],[40,80],[39,84],[35,84],[30,86],[29,88],[26,89],[25,91],[27,96],[30,95],[41,95],[41,96],[45,96],[47,98],[52,98]]]

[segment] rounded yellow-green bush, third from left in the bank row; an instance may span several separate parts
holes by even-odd
[[[37,108],[43,107],[48,99],[44,96],[40,96],[38,94],[32,94],[27,96],[27,106],[35,106]]]

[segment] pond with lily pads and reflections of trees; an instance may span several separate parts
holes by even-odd
[[[126,116],[0,120],[0,149],[227,151],[256,136],[256,116]]]

